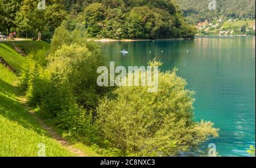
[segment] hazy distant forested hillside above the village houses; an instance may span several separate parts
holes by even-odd
[[[189,23],[222,19],[255,19],[255,0],[216,0],[216,10],[209,10],[207,0],[176,0]]]

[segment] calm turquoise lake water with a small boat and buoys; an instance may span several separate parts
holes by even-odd
[[[162,71],[177,74],[196,92],[195,120],[211,120],[221,156],[250,156],[255,145],[255,37],[197,37],[194,41],[99,42],[115,66],[146,66],[156,58]],[[128,54],[122,55],[126,49]],[[150,53],[151,51],[151,53]]]

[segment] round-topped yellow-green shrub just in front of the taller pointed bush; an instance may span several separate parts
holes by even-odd
[[[102,88],[97,86],[97,68],[102,66],[104,59],[97,50],[89,50],[78,44],[61,46],[49,55],[47,70],[51,73],[56,69],[63,74],[68,85],[84,107],[96,107]]]

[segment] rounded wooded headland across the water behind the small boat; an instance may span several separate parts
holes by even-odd
[[[196,33],[173,0],[64,1],[64,6],[69,23],[84,26],[90,37],[173,38]]]

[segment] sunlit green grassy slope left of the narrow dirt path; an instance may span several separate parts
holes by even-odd
[[[9,44],[0,43],[0,55],[18,72],[26,58]],[[20,102],[18,77],[0,64],[0,156],[38,156],[38,144],[46,145],[46,156],[73,156],[36,122]]]

